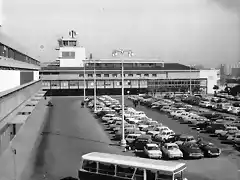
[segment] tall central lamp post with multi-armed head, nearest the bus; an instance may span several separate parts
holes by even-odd
[[[129,57],[133,56],[133,52],[131,50],[123,50],[123,49],[118,49],[114,50],[112,52],[112,56],[117,56],[118,54],[120,55],[121,58],[121,63],[122,63],[122,140],[121,140],[121,146],[125,147],[126,146],[126,140],[125,140],[125,129],[124,129],[124,54],[127,53]]]

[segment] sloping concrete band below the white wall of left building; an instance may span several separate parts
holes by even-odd
[[[21,90],[18,88],[16,89],[16,92],[0,97],[0,121],[24,101],[29,99],[34,93],[40,90],[41,87],[42,82],[36,81],[34,84],[30,83],[21,86]]]

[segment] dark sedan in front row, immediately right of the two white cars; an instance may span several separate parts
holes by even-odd
[[[184,158],[202,158],[203,152],[196,143],[186,142],[179,146]]]

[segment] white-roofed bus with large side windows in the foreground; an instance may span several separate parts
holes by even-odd
[[[80,180],[187,180],[185,163],[92,152],[82,156]]]

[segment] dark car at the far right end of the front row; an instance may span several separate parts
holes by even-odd
[[[217,157],[221,154],[221,149],[210,142],[198,142],[199,148],[202,150],[205,157]]]

